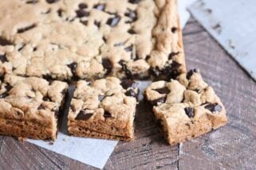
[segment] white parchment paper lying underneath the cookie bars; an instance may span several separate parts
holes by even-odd
[[[194,1],[194,0],[193,0]],[[181,0],[179,2],[179,13],[181,17],[182,27],[186,24],[190,15],[186,10],[186,6],[191,0]],[[142,92],[149,85],[149,81],[139,81],[140,95],[139,99],[143,99]],[[65,110],[65,115],[67,111]],[[61,132],[57,135],[57,140],[52,145],[49,141],[27,140],[34,145],[49,149],[55,153],[68,156],[74,160],[79,160],[82,163],[92,165],[96,168],[104,168],[109,156],[115,149],[118,141],[91,139],[84,137],[70,137],[67,135],[66,120],[61,124]]]

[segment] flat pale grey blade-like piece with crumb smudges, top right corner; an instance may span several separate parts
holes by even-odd
[[[256,80],[256,1],[200,0],[189,9]]]

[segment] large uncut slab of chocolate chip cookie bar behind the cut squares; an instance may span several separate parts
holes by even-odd
[[[170,79],[186,71],[176,0],[0,1],[0,75]]]

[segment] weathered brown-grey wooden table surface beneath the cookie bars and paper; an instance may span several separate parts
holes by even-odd
[[[171,147],[148,106],[140,102],[136,141],[119,142],[105,169],[256,168],[256,83],[193,18],[183,40],[187,68],[199,68],[215,87],[226,106],[228,125]],[[0,169],[96,169],[13,137],[0,136],[0,149]]]

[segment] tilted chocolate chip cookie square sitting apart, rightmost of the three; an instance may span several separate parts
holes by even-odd
[[[179,75],[178,80],[154,82],[145,95],[170,145],[198,137],[227,122],[223,103],[197,69]]]

